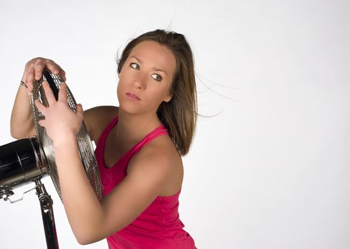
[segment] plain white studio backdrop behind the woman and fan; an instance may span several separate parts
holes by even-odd
[[[214,115],[184,157],[180,218],[197,247],[350,248],[349,25],[349,1],[1,0],[0,144],[14,141],[26,61],[55,60],[85,110],[117,105],[118,49],[156,28],[184,33],[199,112]],[[107,248],[76,242],[43,182],[60,248]],[[0,220],[0,248],[46,248],[34,191],[0,200]]]

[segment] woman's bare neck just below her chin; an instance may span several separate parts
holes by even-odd
[[[119,110],[115,138],[123,143],[134,144],[159,125],[161,122],[157,114],[133,115]]]

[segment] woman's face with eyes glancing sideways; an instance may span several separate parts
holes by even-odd
[[[119,74],[117,96],[120,108],[134,114],[156,113],[169,102],[176,68],[174,54],[155,41],[142,41],[125,60]]]

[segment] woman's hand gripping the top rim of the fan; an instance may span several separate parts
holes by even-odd
[[[33,90],[34,80],[40,80],[43,75],[44,68],[47,68],[51,71],[51,73],[55,75],[60,75],[65,81],[65,71],[60,68],[53,60],[49,60],[46,58],[33,58],[26,63],[26,67],[24,68],[24,73],[22,77],[23,83],[27,86],[28,95],[31,94]]]

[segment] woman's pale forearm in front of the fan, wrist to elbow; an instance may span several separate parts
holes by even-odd
[[[103,226],[102,206],[80,161],[76,137],[65,137],[54,149],[65,213],[78,243],[86,244],[90,233]]]

